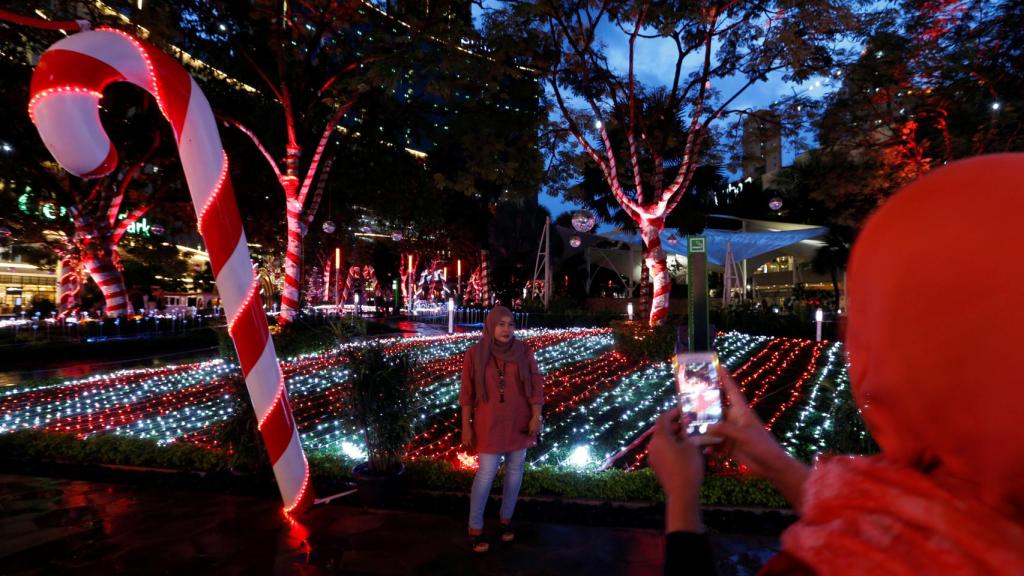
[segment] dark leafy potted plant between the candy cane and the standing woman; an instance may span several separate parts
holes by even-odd
[[[352,477],[364,504],[380,506],[400,488],[401,459],[413,438],[414,361],[409,354],[385,355],[380,344],[352,346],[347,358],[352,372],[347,399],[368,456]]]

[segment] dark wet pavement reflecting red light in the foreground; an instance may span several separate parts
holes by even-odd
[[[657,530],[522,522],[514,544],[493,541],[489,552],[474,554],[459,516],[367,509],[338,503],[343,500],[316,506],[290,524],[280,502],[269,498],[0,475],[0,573],[662,571]],[[769,537],[714,535],[713,545],[721,574],[753,574],[777,543]]]

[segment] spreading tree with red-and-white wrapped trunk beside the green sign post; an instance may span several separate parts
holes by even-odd
[[[802,81],[827,70],[842,53],[835,44],[853,14],[830,0],[683,6],[546,0],[526,11],[546,34],[535,61],[545,69],[568,132],[640,231],[654,282],[650,323],[664,323],[671,280],[659,234],[714,143],[712,123],[744,113],[730,107],[769,75]],[[627,70],[610,60],[599,27],[625,37]],[[637,80],[641,45],[675,50],[671,86],[646,89]],[[729,78],[738,78],[738,87],[723,93]]]

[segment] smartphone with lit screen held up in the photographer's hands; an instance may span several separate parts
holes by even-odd
[[[686,435],[698,446],[718,444],[708,436],[708,426],[722,419],[722,385],[718,377],[718,355],[684,352],[676,355],[676,397],[686,422]]]

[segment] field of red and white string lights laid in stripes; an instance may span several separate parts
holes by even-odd
[[[473,465],[458,446],[458,395],[463,354],[477,337],[383,340],[387,351],[410,352],[419,360],[410,457]],[[670,365],[629,362],[614,351],[609,329],[523,330],[519,337],[534,348],[547,378],[545,431],[528,460],[582,469],[646,465],[644,433],[675,402]],[[839,343],[732,332],[720,334],[716,348],[791,452],[806,456],[824,447],[829,409],[848,394]],[[359,459],[362,440],[343,404],[349,372],[339,353],[282,364],[306,450]],[[241,406],[233,392],[237,373],[236,364],[213,360],[9,388],[0,393],[0,434],[34,428],[217,448],[219,428]]]

